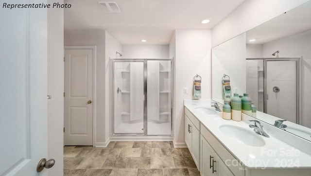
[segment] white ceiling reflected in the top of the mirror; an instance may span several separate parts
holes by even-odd
[[[246,32],[247,44],[264,44],[311,30],[311,1]],[[250,39],[256,41],[250,42]]]

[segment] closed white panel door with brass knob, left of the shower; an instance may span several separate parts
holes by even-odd
[[[93,49],[65,50],[65,145],[93,145]]]

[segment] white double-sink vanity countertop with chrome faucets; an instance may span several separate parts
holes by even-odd
[[[260,168],[311,168],[311,156],[294,148],[293,146],[280,141],[270,135],[270,138],[259,135],[265,141],[261,147],[250,146],[226,136],[219,127],[223,124],[240,126],[253,133],[248,122],[236,122],[224,120],[222,112],[215,115],[207,115],[195,110],[196,107],[210,108],[210,100],[185,100],[184,106],[203,124],[211,134],[220,141],[225,148],[245,167],[249,169]],[[268,125],[268,124],[263,124]],[[263,128],[264,129],[264,128]],[[257,133],[255,133],[257,134]],[[241,136],[241,138],[243,138]]]

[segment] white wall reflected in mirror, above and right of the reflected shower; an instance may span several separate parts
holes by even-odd
[[[263,57],[271,57],[275,51],[280,51],[278,57],[302,57],[301,61],[301,94],[302,122],[311,128],[311,31],[292,35],[273,42],[263,44]]]

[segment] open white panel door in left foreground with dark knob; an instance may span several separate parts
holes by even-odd
[[[47,176],[47,9],[0,8],[0,21],[0,176]]]

